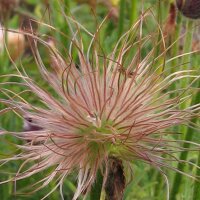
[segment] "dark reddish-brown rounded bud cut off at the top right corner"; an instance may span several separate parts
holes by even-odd
[[[200,18],[200,0],[176,0],[179,11],[192,19]]]

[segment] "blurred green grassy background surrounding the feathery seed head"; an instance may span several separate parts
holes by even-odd
[[[144,23],[143,32],[146,35],[157,32],[157,40],[161,38],[159,28],[162,29],[165,36],[166,46],[173,44],[170,51],[163,59],[170,59],[180,54],[191,51],[200,50],[200,21],[191,20],[178,12],[173,0],[0,0],[0,19],[1,27],[5,29],[12,29],[14,31],[26,30],[34,32],[42,40],[52,45],[52,48],[58,48],[62,55],[67,55],[70,39],[72,34],[70,27],[66,22],[66,16],[71,16],[80,24],[87,28],[92,33],[95,32],[96,27],[107,16],[103,27],[100,31],[100,43],[105,54],[112,51],[112,48],[120,38],[120,36],[127,31],[138,19],[142,10],[151,9],[153,17],[149,17]],[[65,13],[65,14],[64,14]],[[66,16],[65,16],[66,15]],[[45,25],[48,24],[49,26]],[[90,37],[83,33],[82,39],[85,47],[89,45]],[[181,37],[181,38],[180,38]],[[179,39],[178,39],[179,38]],[[4,43],[6,42],[6,47]],[[16,84],[1,84],[1,97],[13,98],[13,94],[9,90],[21,92],[21,95],[32,103],[37,102],[34,96],[26,94],[23,87],[19,87],[20,79],[17,77],[2,76],[5,74],[15,74],[18,66],[22,70],[22,66],[31,78],[38,82],[42,87],[46,85],[35,64],[33,55],[31,53],[31,39],[17,33],[8,32],[5,37],[0,30],[0,83],[16,82]],[[149,52],[153,46],[153,42],[149,42],[142,50],[142,54]],[[39,50],[45,65],[51,65],[50,55],[47,48],[39,45]],[[162,46],[158,45],[159,55],[162,51]],[[145,52],[146,51],[146,52]],[[8,55],[9,52],[9,55]],[[76,55],[74,55],[76,57]],[[11,61],[12,60],[12,61]],[[160,61],[162,62],[162,60]],[[200,56],[199,53],[187,55],[181,58],[174,59],[173,62],[166,65],[169,67],[169,73],[176,71],[176,69],[195,69],[199,73]],[[50,68],[50,67],[49,67]],[[179,84],[187,85],[187,83],[180,82]],[[199,83],[195,83],[197,87]],[[176,88],[176,85],[173,86]],[[2,89],[3,88],[3,89]],[[10,96],[6,96],[9,94]],[[198,92],[193,93],[190,101],[185,104],[199,103]],[[1,109],[4,107],[0,104]],[[199,122],[196,122],[199,123]],[[10,131],[21,130],[23,128],[23,121],[16,114],[9,112],[0,117],[0,126]],[[176,137],[179,139],[200,141],[200,135],[193,134],[194,130],[180,127]],[[189,134],[187,134],[189,133]],[[188,136],[189,135],[189,136]],[[14,140],[14,141],[13,141]],[[13,143],[20,143],[16,139],[9,136],[1,137],[0,139],[0,157],[9,157],[16,153],[17,149]],[[182,152],[182,159],[197,163],[198,152],[185,153]],[[0,181],[4,181],[12,177],[12,173],[17,172],[20,162],[12,162],[3,165],[0,168]],[[180,169],[182,165],[178,166]],[[186,169],[195,172],[193,168]],[[46,173],[46,172],[44,172]],[[197,200],[200,196],[194,196],[194,185],[198,185],[189,178],[176,174],[175,172],[167,171],[170,181],[171,199],[172,200]],[[17,195],[14,194],[15,184],[7,183],[0,185],[0,199],[1,200],[37,200],[41,199],[47,191],[50,191],[56,183],[50,183],[48,188],[42,189],[33,194],[21,194],[26,187],[36,182],[43,174],[38,174],[26,180],[17,183]],[[72,199],[73,193],[76,189],[76,174],[70,176],[64,182],[65,199]],[[19,193],[19,194],[18,194]],[[124,199],[126,200],[162,200],[166,198],[166,186],[161,175],[154,169],[150,168],[141,162],[134,162],[133,181],[127,186]],[[175,198],[176,196],[176,198]],[[59,190],[55,191],[47,199],[60,199]]]

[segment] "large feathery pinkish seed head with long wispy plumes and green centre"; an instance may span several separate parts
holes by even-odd
[[[37,96],[40,104],[33,105],[23,98],[16,100],[19,95],[1,99],[20,116],[25,119],[28,116],[32,126],[40,127],[9,132],[24,141],[18,145],[21,153],[7,159],[24,161],[11,180],[28,178],[53,167],[38,182],[37,189],[56,180],[55,189],[60,186],[62,191],[65,178],[75,171],[78,180],[73,199],[77,199],[81,193],[90,191],[98,170],[104,175],[105,189],[109,190],[107,179],[116,173],[109,171],[112,165],[119,168],[118,180],[123,180],[123,187],[122,165],[136,159],[157,168],[165,178],[164,167],[176,171],[171,162],[181,161],[173,152],[179,151],[179,144],[184,141],[169,137],[173,134],[170,128],[198,117],[199,104],[185,109],[180,105],[190,98],[188,89],[199,75],[192,70],[169,74],[169,68],[158,65],[163,54],[155,56],[156,45],[141,56],[141,49],[153,35],[142,36],[143,18],[122,36],[110,55],[103,54],[97,47],[98,31],[87,32],[92,38],[88,53],[84,51],[82,40],[74,34],[69,54],[64,58],[55,48],[56,44],[52,48],[32,35],[39,71],[54,92],[48,92],[27,74],[20,73],[24,86]],[[135,34],[137,31],[139,34]],[[31,37],[30,33],[24,34]],[[43,63],[37,48],[39,42],[51,51],[53,71]],[[76,59],[72,49],[76,50]],[[161,67],[163,70],[158,70]],[[173,90],[171,85],[182,79],[190,81],[187,88]]]

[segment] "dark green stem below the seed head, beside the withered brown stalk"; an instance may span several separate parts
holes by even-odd
[[[97,172],[97,178],[94,185],[91,188],[90,200],[99,200],[101,198],[101,190],[103,184],[103,176],[100,170]]]

